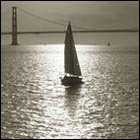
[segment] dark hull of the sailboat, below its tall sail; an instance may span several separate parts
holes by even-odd
[[[76,85],[76,84],[82,84],[82,78],[81,77],[75,77],[75,76],[64,76],[63,79],[61,79],[61,82],[63,85]]]

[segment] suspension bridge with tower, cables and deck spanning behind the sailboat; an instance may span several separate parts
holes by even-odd
[[[45,23],[50,23],[51,25],[55,25],[55,26],[59,26],[57,29],[48,29],[46,31],[18,31],[18,22],[17,19],[19,18],[17,16],[17,9],[18,11],[21,11],[22,13],[34,17],[36,19],[39,19],[41,21],[44,21]],[[9,12],[10,9],[7,9],[6,11],[4,11],[3,13],[1,13],[1,15],[5,15],[7,12]],[[26,21],[24,21],[26,22]],[[18,39],[17,36],[20,34],[56,34],[56,33],[65,33],[66,32],[66,27],[67,24],[63,24],[60,22],[56,22],[54,20],[50,20],[48,18],[44,18],[41,16],[38,16],[36,14],[33,14],[29,11],[26,11],[22,8],[17,8],[17,7],[12,7],[12,31],[4,31],[1,32],[1,35],[12,35],[12,45],[18,45]],[[106,33],[106,32],[139,32],[138,29],[91,29],[91,28],[87,28],[87,27],[78,27],[78,26],[72,26],[73,28],[73,32],[74,33]],[[20,30],[20,29],[19,29]]]

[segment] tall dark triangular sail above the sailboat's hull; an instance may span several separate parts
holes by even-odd
[[[65,36],[65,51],[64,51],[65,73],[70,75],[81,76],[80,65],[75,49],[74,38],[72,34],[71,25],[69,22],[66,36]]]

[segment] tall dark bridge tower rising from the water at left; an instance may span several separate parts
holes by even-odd
[[[17,7],[12,7],[12,44],[18,45],[17,41]]]

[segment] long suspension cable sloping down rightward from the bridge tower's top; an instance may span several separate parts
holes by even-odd
[[[38,16],[38,15],[35,15],[35,14],[29,12],[29,11],[26,11],[26,10],[22,9],[21,7],[18,7],[18,9],[21,10],[22,12],[24,12],[24,13],[32,16],[32,17],[38,18],[40,20],[43,20],[43,21],[46,21],[46,22],[50,22],[50,23],[53,23],[53,24],[56,24],[56,25],[60,25],[60,26],[63,26],[65,28],[67,27],[66,24],[63,24],[63,23],[60,23],[60,22],[56,22],[54,20],[51,20],[51,19],[48,19],[48,18],[44,18],[44,17]],[[84,28],[84,27],[77,27],[77,26],[72,26],[72,27],[75,28],[75,29],[83,29],[83,30],[85,30],[85,29],[87,30],[88,29],[88,30],[90,30],[89,28]]]

